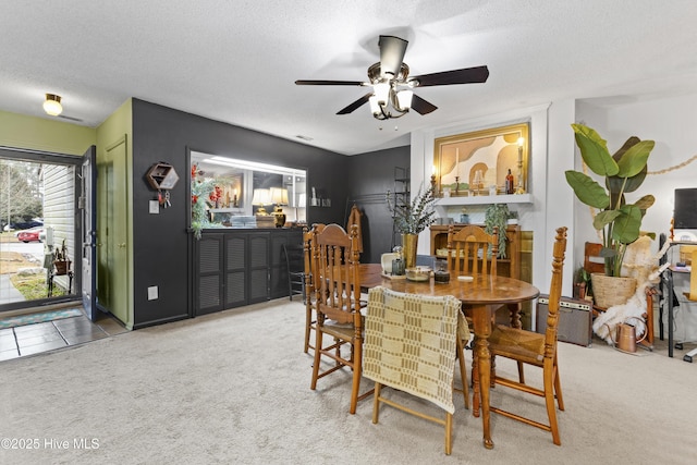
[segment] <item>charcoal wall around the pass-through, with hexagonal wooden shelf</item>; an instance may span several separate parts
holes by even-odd
[[[344,223],[341,199],[348,195],[346,173],[353,164],[352,157],[134,98],[134,328],[191,316],[189,149],[305,169],[307,185],[316,186],[332,199],[330,208],[309,207],[308,222]],[[172,164],[180,181],[170,194],[172,206],[161,209],[159,215],[149,215],[148,201],[157,198],[157,193],[145,174],[160,161]],[[159,286],[158,299],[147,299],[147,287],[151,285]]]

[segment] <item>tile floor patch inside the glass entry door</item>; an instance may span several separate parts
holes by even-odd
[[[27,325],[0,330],[0,360],[24,357],[82,344],[125,332],[123,326],[108,315],[97,322],[86,316]]]

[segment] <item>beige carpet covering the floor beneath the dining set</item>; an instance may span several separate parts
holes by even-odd
[[[680,352],[560,343],[561,446],[493,416],[487,451],[480,419],[455,397],[445,456],[438,425],[389,407],[372,425],[370,401],[348,415],[348,374],[310,391],[303,319],[299,302],[281,299],[2,362],[0,463],[697,463],[697,364]],[[508,393],[497,388],[492,402],[545,418],[540,401]]]

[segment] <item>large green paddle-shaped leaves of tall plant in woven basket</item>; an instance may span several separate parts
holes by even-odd
[[[626,247],[639,237],[646,209],[655,201],[649,194],[629,204],[625,194],[635,192],[644,182],[655,143],[632,136],[610,155],[607,140],[595,130],[583,124],[572,124],[572,127],[585,166],[604,178],[604,187],[586,173],[574,170],[566,171],[566,182],[582,203],[597,209],[597,212],[591,210],[592,225],[601,233],[604,274],[619,278]],[[600,289],[595,281],[594,289],[597,296]]]

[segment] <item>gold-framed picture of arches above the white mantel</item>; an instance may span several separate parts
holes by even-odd
[[[441,197],[528,193],[529,124],[436,138],[433,182]]]

